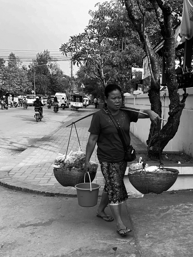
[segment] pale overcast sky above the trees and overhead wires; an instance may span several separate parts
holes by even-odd
[[[104,0],[1,0],[0,49],[55,52],[69,36],[84,31],[97,2]],[[68,63],[59,64],[68,75]]]

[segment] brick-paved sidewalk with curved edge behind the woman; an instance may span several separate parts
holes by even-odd
[[[94,106],[90,106],[88,109],[92,110],[94,109]],[[74,111],[72,112],[74,113]],[[81,115],[86,116],[88,113],[81,113]],[[51,165],[58,156],[57,153],[66,153],[71,132],[71,126],[67,128],[66,126],[79,118],[80,116],[76,116],[71,121],[64,123],[59,129],[44,136],[38,142],[32,144],[28,149],[15,157],[7,165],[1,167],[0,185],[25,192],[76,196],[76,189],[74,187],[63,187],[60,185],[54,176],[53,167],[51,167]],[[86,149],[86,143],[89,137],[88,129],[91,118],[92,116],[76,123],[77,133],[83,151]],[[131,143],[138,151],[146,151],[147,149],[146,145],[132,134]],[[79,143],[73,125],[67,154],[71,150],[77,151],[78,149]],[[92,154],[91,161],[95,161],[99,164],[96,156],[96,147]],[[101,195],[104,188],[104,179],[100,170],[100,165],[93,183],[97,183],[101,186],[99,190],[99,195]]]

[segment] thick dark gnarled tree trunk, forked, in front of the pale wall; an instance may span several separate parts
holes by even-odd
[[[160,69],[158,65],[157,56],[153,52],[151,43],[148,39],[148,36],[145,32],[145,13],[141,7],[141,0],[136,0],[139,10],[142,14],[142,20],[139,20],[135,13],[134,6],[130,0],[125,0],[125,6],[127,8],[129,19],[132,21],[135,26],[140,40],[143,44],[144,51],[147,54],[148,62],[150,65],[151,72],[151,87],[148,92],[148,96],[151,103],[151,109],[159,114],[161,117],[161,101],[160,101],[160,81],[159,74]],[[182,110],[185,106],[186,97],[188,94],[183,94],[183,99],[180,101],[178,94],[178,87],[176,81],[176,72],[175,72],[175,43],[174,43],[174,34],[172,29],[172,8],[170,4],[165,3],[163,0],[149,0],[154,7],[154,11],[159,22],[161,33],[164,39],[164,50],[165,50],[165,77],[168,86],[168,93],[170,99],[169,105],[169,118],[167,123],[161,129],[161,124],[159,127],[154,128],[151,124],[150,134],[147,140],[148,144],[148,155],[149,156],[159,156],[159,152],[162,153],[165,146],[168,142],[174,137],[178,131],[180,116]],[[158,145],[158,133],[159,129],[159,139],[160,139],[160,149]]]

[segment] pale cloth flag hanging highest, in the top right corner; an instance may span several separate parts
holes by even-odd
[[[188,40],[193,36],[193,0],[184,0],[180,35]]]

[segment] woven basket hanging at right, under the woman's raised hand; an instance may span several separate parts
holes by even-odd
[[[173,174],[137,172],[128,173],[129,181],[142,194],[161,194],[167,191],[176,181],[179,171],[171,168],[164,168]]]

